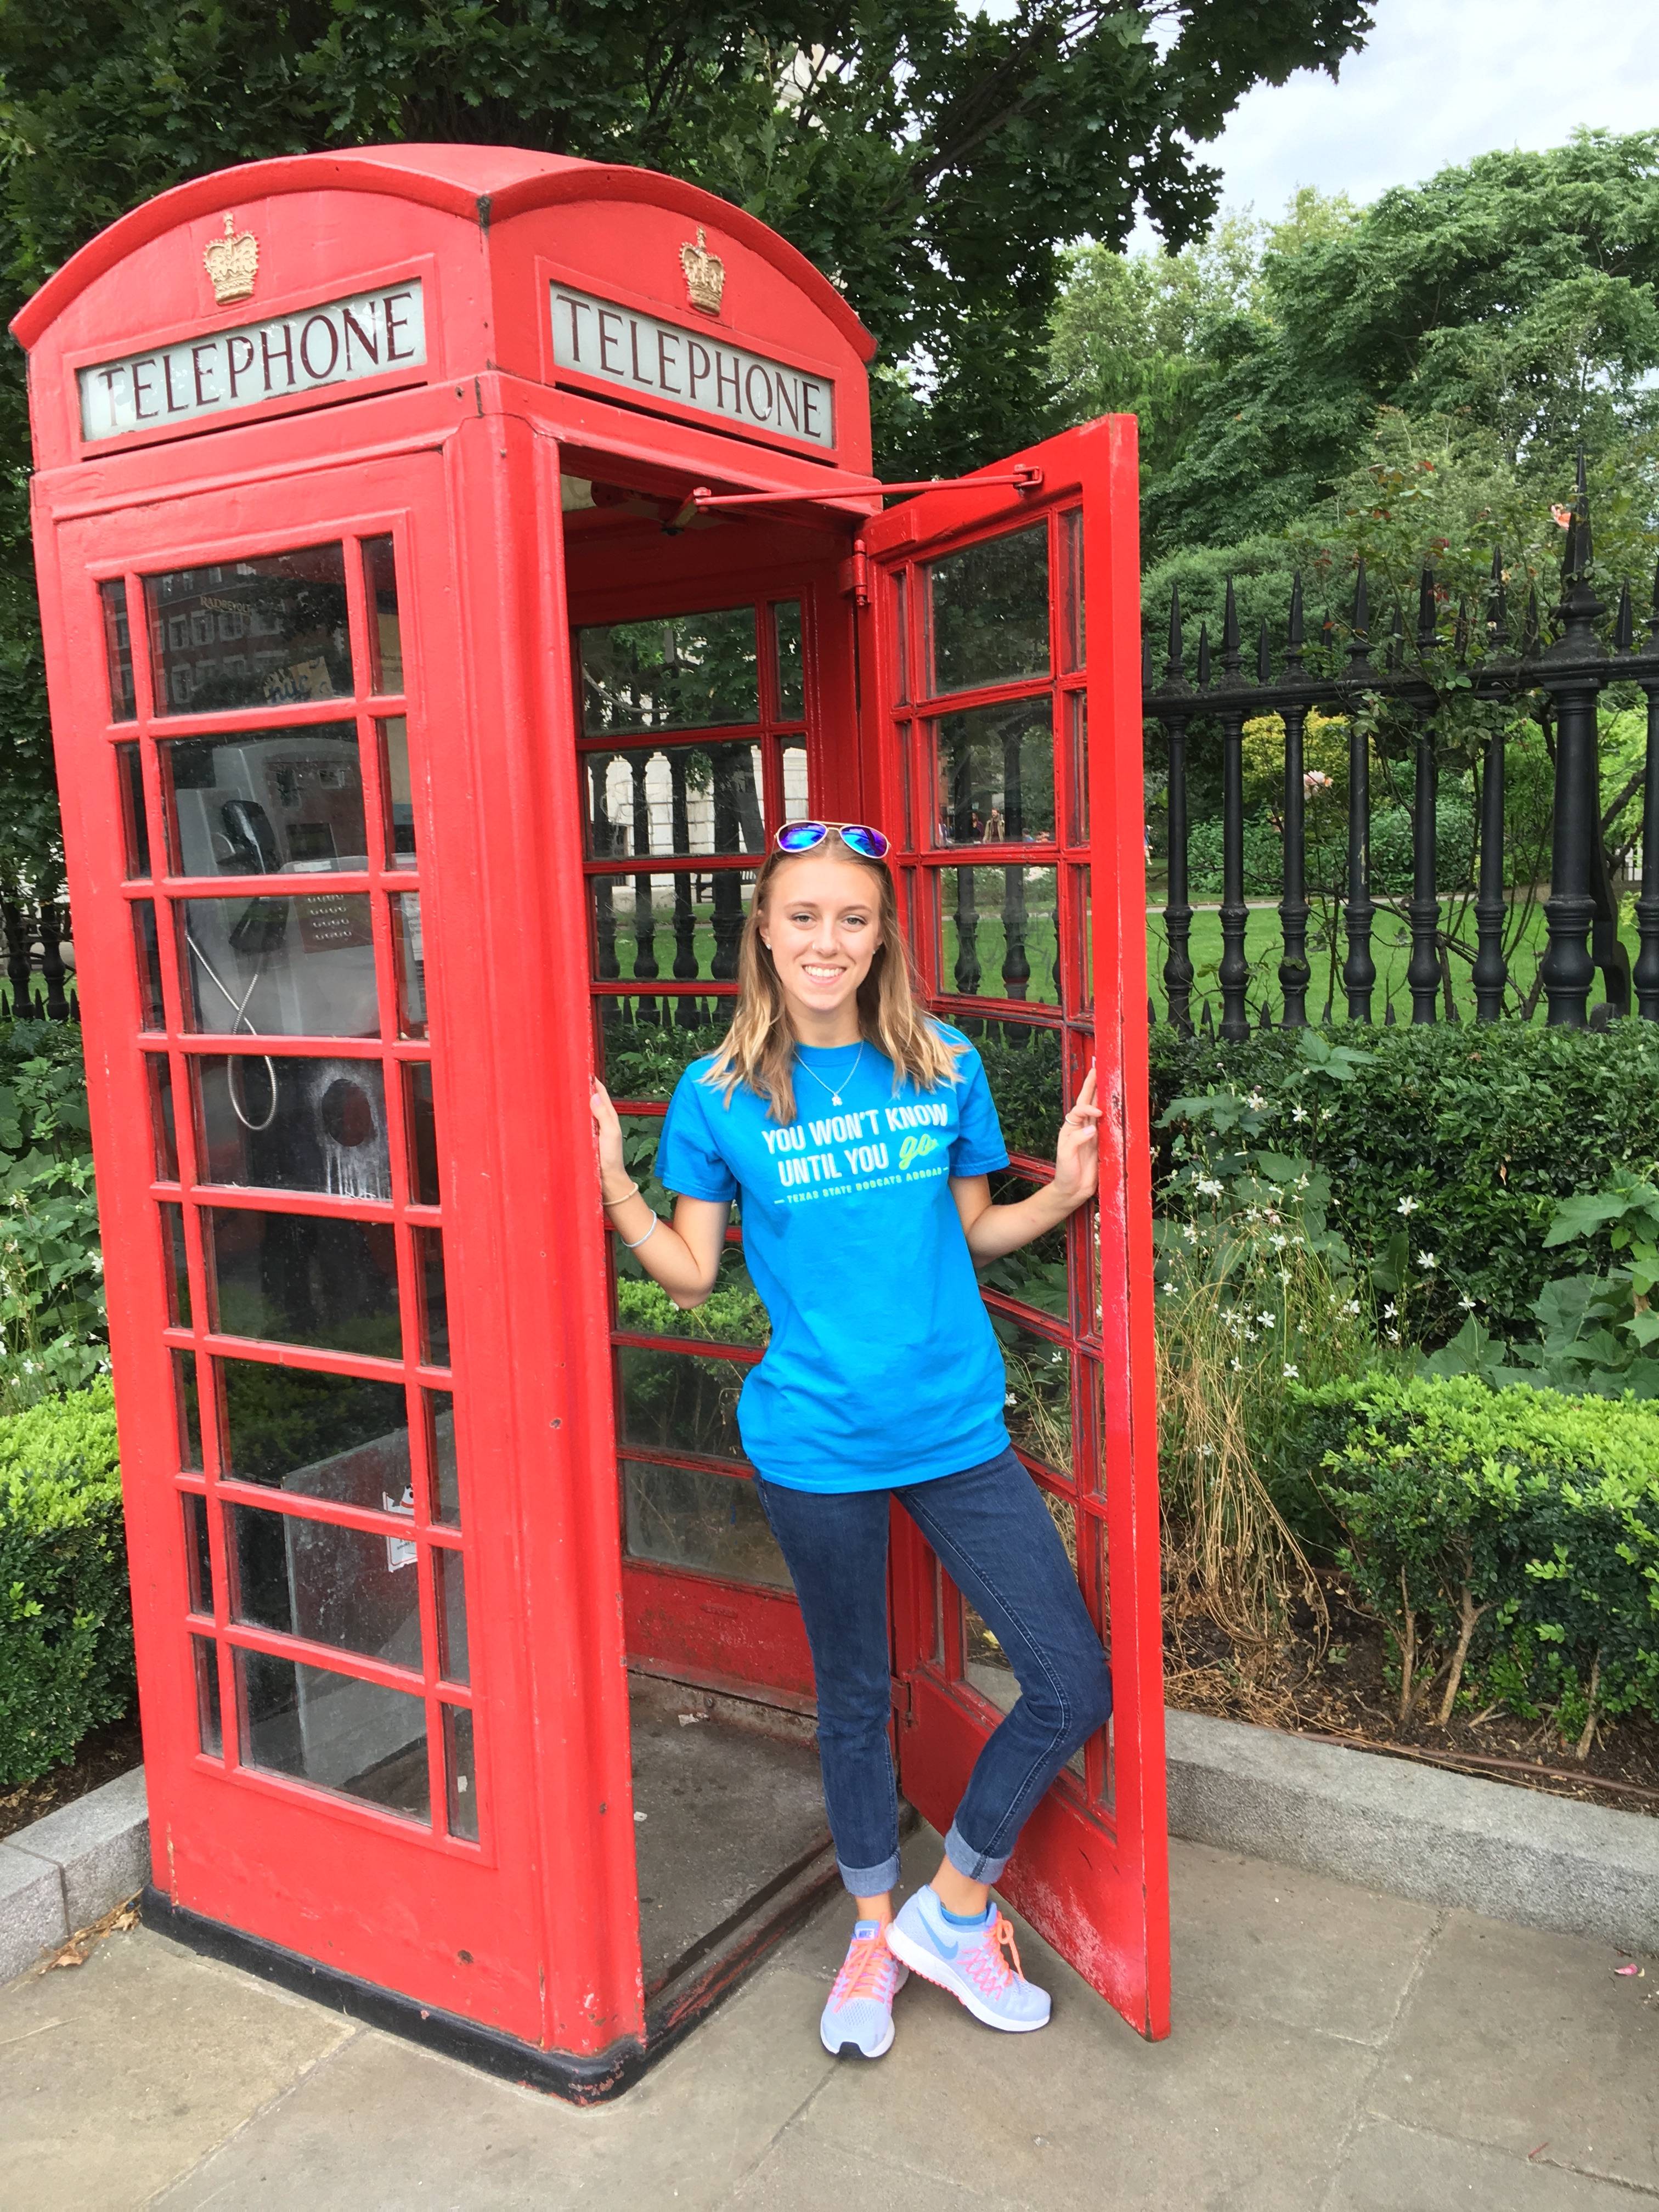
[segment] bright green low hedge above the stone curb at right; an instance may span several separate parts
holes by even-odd
[[[1659,1407],[1369,1374],[1301,1391],[1340,1564],[1411,1652],[1416,1712],[1460,1694],[1659,1719]]]

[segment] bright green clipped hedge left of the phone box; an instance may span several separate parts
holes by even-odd
[[[133,1705],[108,1383],[0,1418],[0,1787]]]

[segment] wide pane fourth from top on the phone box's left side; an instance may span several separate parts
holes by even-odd
[[[392,1197],[378,1062],[192,1053],[190,1079],[204,1183]]]

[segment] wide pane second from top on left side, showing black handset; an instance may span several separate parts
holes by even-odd
[[[356,723],[161,745],[175,876],[325,876],[369,865]]]

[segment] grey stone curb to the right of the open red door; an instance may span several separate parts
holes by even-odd
[[[1659,1820],[1274,1728],[1168,1714],[1170,1834],[1420,1905],[1659,1953]]]

